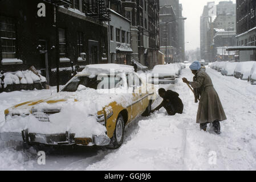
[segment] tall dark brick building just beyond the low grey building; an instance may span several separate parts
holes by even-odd
[[[131,59],[153,68],[159,54],[159,1],[111,0],[112,10],[131,20]]]

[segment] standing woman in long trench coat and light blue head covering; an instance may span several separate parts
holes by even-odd
[[[196,81],[188,81],[182,78],[183,82],[190,84],[200,94],[200,102],[197,110],[197,123],[200,123],[200,129],[206,131],[207,124],[213,123],[214,132],[220,134],[220,121],[226,120],[224,109],[220,98],[213,87],[209,75],[202,71],[201,64],[194,61],[190,67],[195,75]]]

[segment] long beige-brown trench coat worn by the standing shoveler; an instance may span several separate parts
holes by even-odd
[[[209,75],[200,69],[196,73],[196,78],[197,81],[189,82],[189,84],[192,88],[196,88],[201,96],[197,110],[197,123],[212,123],[216,120],[227,119]]]

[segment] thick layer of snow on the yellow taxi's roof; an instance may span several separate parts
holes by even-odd
[[[134,68],[124,64],[90,64],[83,69],[83,74],[99,75],[100,73],[133,73]]]

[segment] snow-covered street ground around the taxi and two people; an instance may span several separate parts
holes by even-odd
[[[198,104],[191,90],[181,80],[192,80],[188,68],[178,82],[161,85],[178,94],[184,114],[169,116],[164,108],[140,117],[125,130],[123,145],[117,150],[78,147],[46,151],[46,164],[38,164],[34,148],[25,149],[19,142],[0,142],[0,170],[255,170],[256,169],[256,87],[247,81],[222,76],[210,67],[212,78],[227,120],[221,122],[221,134],[208,125],[200,131],[196,123]],[[56,92],[56,89],[52,89]],[[0,94],[0,127],[4,110],[38,96],[50,96],[50,90],[15,91]],[[160,104],[158,98],[154,109]]]

